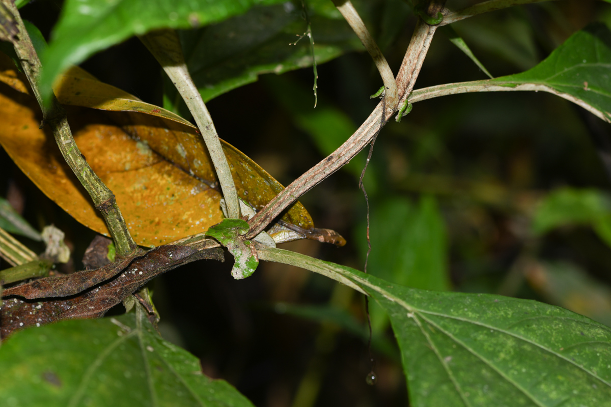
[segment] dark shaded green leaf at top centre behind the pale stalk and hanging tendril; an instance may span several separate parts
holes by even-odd
[[[318,5],[320,2],[316,0],[312,4],[316,7],[308,10],[315,39],[316,63],[327,62],[347,51],[363,49],[343,18],[329,18],[329,13],[316,14],[316,10],[322,8]],[[301,5],[297,7],[292,2],[285,2],[254,7],[244,15],[197,31],[183,31],[180,35],[189,72],[203,100],[208,101],[233,88],[257,81],[260,74],[281,74],[310,67],[309,41],[291,45],[306,29]],[[164,107],[187,115],[172,84],[166,81],[166,85]],[[310,99],[310,107],[312,104]]]

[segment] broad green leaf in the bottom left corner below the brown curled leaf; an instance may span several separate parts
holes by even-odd
[[[13,334],[0,348],[2,406],[252,407],[136,313],[66,320]]]

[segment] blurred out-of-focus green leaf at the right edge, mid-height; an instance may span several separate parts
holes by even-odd
[[[591,225],[611,246],[611,196],[594,189],[558,189],[544,198],[533,215],[532,230],[542,235],[567,225]]]

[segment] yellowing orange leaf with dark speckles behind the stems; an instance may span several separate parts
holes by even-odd
[[[48,126],[38,128],[42,117],[35,99],[28,96],[27,82],[2,55],[0,81],[14,89],[0,85],[0,144],[45,195],[82,224],[108,236]],[[191,123],[103,84],[79,68],[70,70],[56,85],[61,103],[111,110],[71,107],[68,122],[81,153],[115,194],[138,244],[162,245],[221,221],[216,176],[202,137]],[[222,143],[238,195],[249,206],[260,209],[284,188],[238,149]],[[345,243],[335,232],[313,228],[300,203],[269,232],[276,242],[307,237]]]

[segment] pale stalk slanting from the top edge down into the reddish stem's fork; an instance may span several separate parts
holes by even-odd
[[[363,43],[367,52],[376,64],[376,68],[382,77],[385,89],[385,100],[386,100],[386,115],[391,115],[397,109],[398,93],[397,84],[395,82],[395,76],[390,70],[386,58],[380,51],[378,44],[373,40],[363,20],[360,18],[359,13],[354,9],[354,5],[350,0],[333,0],[335,7],[344,16],[348,24],[353,29],[354,33],[359,37],[360,42]]]

